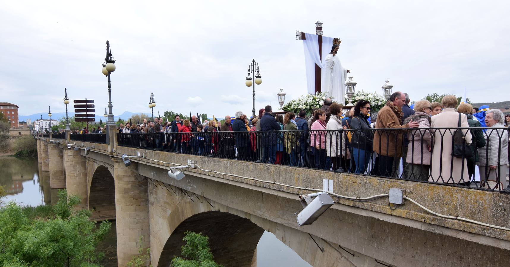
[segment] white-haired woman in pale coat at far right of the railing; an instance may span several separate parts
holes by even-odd
[[[503,116],[500,110],[489,110],[485,114],[485,124],[491,128],[503,128]],[[487,180],[492,180],[499,182],[494,187],[490,186],[492,189],[504,189],[507,186],[508,131],[487,129],[483,134],[487,144],[478,150],[480,161],[476,163],[480,170],[480,187],[488,187]]]

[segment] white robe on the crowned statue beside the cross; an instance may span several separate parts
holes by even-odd
[[[345,103],[345,76],[347,76],[347,69],[342,67],[340,59],[333,54],[326,56],[324,60],[325,68],[322,71],[326,72],[324,75],[324,91],[327,95],[333,97],[333,101],[341,104]]]

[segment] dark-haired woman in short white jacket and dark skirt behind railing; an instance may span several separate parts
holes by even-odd
[[[333,164],[333,170],[340,168],[340,158],[345,155],[345,138],[342,138],[340,129],[342,126],[342,106],[333,103],[329,106],[331,116],[326,124],[326,156]]]

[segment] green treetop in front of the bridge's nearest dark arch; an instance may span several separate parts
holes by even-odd
[[[186,245],[181,247],[181,254],[188,259],[174,257],[170,262],[171,267],[220,267],[214,261],[213,253],[209,246],[209,237],[201,233],[186,231],[183,241]]]

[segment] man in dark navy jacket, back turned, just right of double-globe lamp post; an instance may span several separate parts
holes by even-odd
[[[260,127],[262,131],[279,131],[280,125],[271,115],[273,111],[270,105],[266,105],[265,113],[260,119]],[[264,163],[274,163],[276,161],[276,137],[274,132],[262,132],[262,145],[264,146]]]

